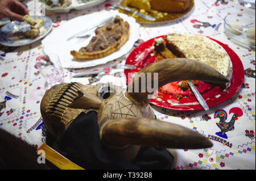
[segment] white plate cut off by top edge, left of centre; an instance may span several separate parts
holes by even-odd
[[[102,2],[106,0],[92,0],[89,2],[82,2],[82,0],[72,0],[72,3],[68,7],[51,7],[46,4],[46,0],[40,0],[46,6],[46,14],[50,12],[54,13],[67,13],[71,10],[84,10],[93,6],[100,5]],[[48,11],[48,12],[47,12]]]

